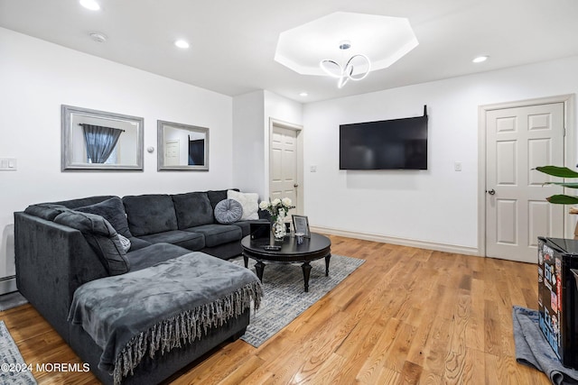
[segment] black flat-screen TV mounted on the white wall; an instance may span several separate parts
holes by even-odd
[[[340,170],[427,170],[424,115],[340,125]]]

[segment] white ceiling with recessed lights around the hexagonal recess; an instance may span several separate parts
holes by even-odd
[[[303,103],[578,54],[578,0],[99,3],[91,12],[77,0],[0,0],[0,26],[228,96],[266,89]],[[406,17],[419,45],[341,89],[334,78],[300,75],[274,60],[281,32],[338,11]],[[107,42],[90,40],[92,31]],[[191,48],[175,48],[177,39]],[[473,64],[478,55],[490,58]]]

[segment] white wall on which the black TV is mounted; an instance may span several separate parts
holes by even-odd
[[[475,252],[478,189],[484,188],[478,186],[478,106],[576,93],[576,69],[573,57],[305,105],[310,224]],[[418,116],[424,105],[428,170],[339,170],[340,124]],[[312,165],[317,172],[309,171]]]

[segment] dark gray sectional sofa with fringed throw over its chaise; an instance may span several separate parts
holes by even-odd
[[[223,260],[267,219],[219,223],[230,191],[28,206],[14,213],[17,287],[99,380],[158,383],[243,335],[258,306],[255,274]]]

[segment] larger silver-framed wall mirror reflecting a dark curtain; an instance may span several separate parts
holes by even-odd
[[[143,170],[144,119],[61,106],[62,171]]]

